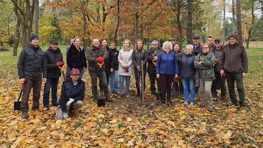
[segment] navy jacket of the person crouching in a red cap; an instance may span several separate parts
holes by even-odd
[[[66,110],[66,104],[69,101],[69,98],[73,98],[74,102],[76,101],[82,101],[84,99],[84,93],[85,93],[85,82],[82,80],[78,80],[77,84],[74,85],[72,78],[63,81],[62,88],[61,88],[61,95],[59,100],[59,105],[61,107],[61,110]]]

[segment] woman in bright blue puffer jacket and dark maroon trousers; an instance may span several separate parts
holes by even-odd
[[[163,49],[157,57],[156,65],[156,77],[161,79],[162,82],[162,103],[165,103],[165,98],[167,94],[167,102],[172,105],[171,102],[171,84],[175,77],[178,77],[178,61],[177,56],[171,51],[172,45],[170,42],[166,41],[163,43]]]

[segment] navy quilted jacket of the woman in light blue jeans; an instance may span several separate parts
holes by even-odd
[[[180,75],[182,78],[194,79],[194,76],[195,76],[194,58],[195,58],[195,55],[193,52],[189,55],[183,54],[181,56],[179,70],[180,70]]]

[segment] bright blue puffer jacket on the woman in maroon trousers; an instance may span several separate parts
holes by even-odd
[[[179,74],[177,56],[174,52],[162,51],[157,57],[156,74]]]

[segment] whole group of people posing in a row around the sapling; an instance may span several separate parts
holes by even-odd
[[[248,60],[242,44],[237,43],[236,35],[228,37],[229,44],[222,47],[221,39],[208,37],[207,43],[200,44],[200,37],[193,38],[193,45],[187,45],[186,51],[180,50],[180,44],[175,39],[163,43],[163,50],[157,40],[151,42],[150,50],[144,49],[144,43],[138,39],[134,50],[131,41],[125,39],[120,51],[116,50],[115,43],[108,46],[108,41],[94,37],[92,46],[86,53],[81,47],[81,39],[71,39],[71,46],[66,50],[67,72],[66,80],[62,83],[59,103],[57,103],[57,86],[61,76],[60,69],[64,66],[62,53],[58,48],[58,41],[50,41],[50,47],[43,52],[39,47],[39,38],[31,36],[31,44],[22,49],[18,61],[18,74],[22,85],[21,112],[22,118],[28,118],[28,99],[33,87],[32,110],[39,110],[40,89],[43,82],[44,111],[49,110],[49,95],[52,90],[52,106],[56,108],[56,118],[65,119],[69,114],[74,116],[75,111],[83,105],[85,82],[83,74],[88,69],[94,101],[98,99],[97,78],[99,89],[106,101],[113,102],[110,92],[117,98],[129,97],[131,75],[134,73],[137,96],[145,90],[146,73],[150,79],[150,93],[156,95],[162,103],[172,105],[172,83],[176,89],[184,93],[185,105],[193,105],[197,92],[200,94],[201,107],[208,107],[213,111],[212,92],[221,88],[221,99],[226,100],[225,77],[231,102],[237,106],[234,82],[237,83],[239,105],[245,109],[243,78],[247,74]],[[148,64],[147,64],[148,63]],[[118,85],[119,76],[119,85]],[[144,76],[144,81],[142,76]],[[126,83],[125,93],[123,91]],[[157,83],[157,91],[155,87]],[[144,83],[144,85],[141,85]],[[144,88],[142,88],[144,86]],[[189,100],[190,94],[190,100]]]

